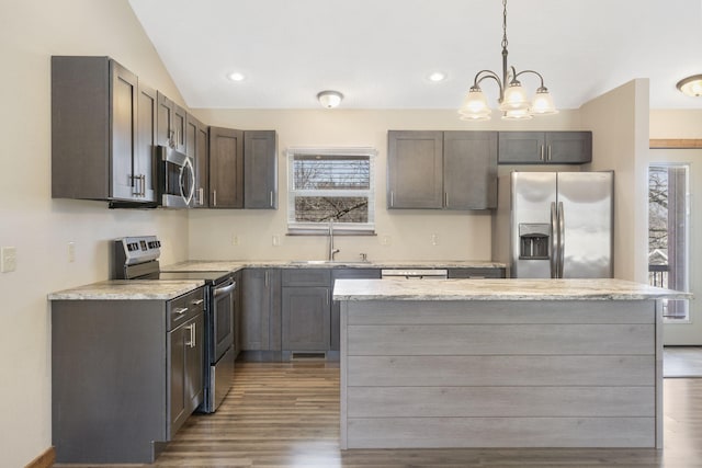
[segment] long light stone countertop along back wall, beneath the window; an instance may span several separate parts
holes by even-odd
[[[252,269],[505,269],[505,263],[484,260],[381,260],[381,261],[344,261],[335,260],[190,260],[161,266],[162,272],[233,272],[245,267]]]

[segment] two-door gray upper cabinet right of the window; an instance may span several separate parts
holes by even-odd
[[[497,133],[390,130],[387,180],[388,208],[494,208]]]

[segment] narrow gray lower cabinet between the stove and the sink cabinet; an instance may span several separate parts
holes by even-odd
[[[246,269],[241,283],[241,351],[280,351],[280,269]]]

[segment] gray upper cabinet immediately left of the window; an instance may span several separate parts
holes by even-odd
[[[278,136],[275,130],[244,133],[244,207],[278,208]]]

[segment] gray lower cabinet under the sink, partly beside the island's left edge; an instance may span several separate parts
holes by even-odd
[[[283,270],[283,351],[328,351],[331,270]]]

